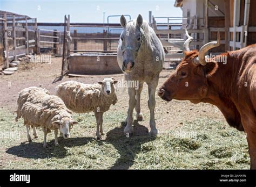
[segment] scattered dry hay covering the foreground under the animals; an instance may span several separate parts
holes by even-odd
[[[117,106],[113,106],[117,107]],[[131,138],[123,135],[126,112],[113,110],[104,114],[103,140],[97,140],[96,120],[92,113],[75,114],[79,125],[72,138],[59,138],[54,146],[48,135],[49,148],[39,138],[26,142],[23,121],[0,110],[2,169],[249,169],[250,159],[245,134],[218,120],[199,118],[151,138],[147,128],[134,121]],[[8,138],[20,132],[20,139]],[[32,133],[31,133],[32,134]]]

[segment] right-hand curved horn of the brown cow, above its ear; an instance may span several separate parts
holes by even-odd
[[[206,60],[205,60],[205,54],[207,51],[209,51],[211,48],[218,47],[220,46],[220,31],[218,30],[218,38],[217,41],[211,41],[205,44],[203,47],[200,48],[199,50],[199,55],[198,57],[194,60],[195,64],[198,64],[198,62],[205,66],[206,65]]]

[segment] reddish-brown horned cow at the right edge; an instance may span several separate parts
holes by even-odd
[[[161,85],[158,96],[217,106],[230,126],[247,133],[251,169],[256,169],[256,45],[206,58],[209,49],[220,45],[219,32],[218,41],[199,52],[190,51],[193,38],[187,31],[186,35],[185,57]]]

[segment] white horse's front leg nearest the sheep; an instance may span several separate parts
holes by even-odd
[[[136,106],[136,90],[135,88],[128,88],[128,92],[129,92],[129,108],[128,108],[128,112],[127,112],[127,118],[126,118],[126,122],[127,125],[124,128],[124,134],[126,136],[129,136],[129,134],[133,133],[133,127],[132,127],[132,123],[133,123],[133,109]]]

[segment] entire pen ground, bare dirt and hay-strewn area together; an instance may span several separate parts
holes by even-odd
[[[104,113],[102,140],[95,138],[96,120],[93,113],[76,114],[79,125],[72,130],[72,138],[60,138],[55,147],[52,135],[49,148],[43,149],[43,134],[28,142],[23,121],[15,121],[18,92],[36,86],[55,94],[56,86],[64,81],[76,80],[96,83],[104,77],[122,80],[123,74],[86,77],[60,75],[62,59],[53,57],[51,64],[23,64],[15,74],[0,75],[0,168],[3,169],[248,169],[248,147],[244,135],[227,125],[217,107],[188,101],[165,102],[156,96],[156,126],[160,132],[152,139],[149,132],[147,87],[142,91],[142,112],[145,121],[134,122],[134,134],[127,139],[123,134],[123,121],[128,107],[126,89],[117,88],[118,102]],[[161,85],[174,70],[163,70]],[[135,116],[135,113],[134,113]],[[183,137],[180,132],[196,133]],[[16,133],[20,138],[6,138]],[[18,136],[18,137],[19,137]]]

